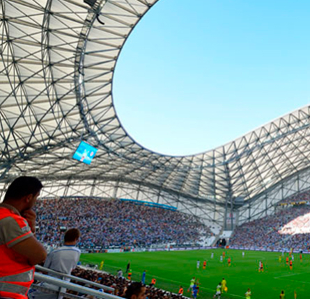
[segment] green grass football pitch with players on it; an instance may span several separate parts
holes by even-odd
[[[222,252],[226,252],[223,263],[220,262]],[[211,252],[214,258],[211,259]],[[245,298],[245,292],[251,289],[251,299],[277,299],[281,290],[285,291],[286,299],[309,298],[310,293],[310,254],[294,254],[293,270],[286,266],[285,258],[279,261],[281,253],[241,250],[195,250],[182,252],[128,252],[82,254],[83,264],[98,264],[104,260],[103,270],[115,274],[119,268],[125,269],[128,261],[131,263],[132,280],[141,281],[141,275],[146,270],[146,284],[155,277],[156,286],[160,289],[178,293],[179,286],[184,288],[184,296],[191,297],[187,292],[189,281],[196,277],[200,282],[199,298],[209,299],[215,293],[217,284],[225,277],[228,291],[222,298]],[[285,257],[288,254],[285,254]],[[227,259],[231,257],[231,266]],[[201,261],[196,268],[196,261]],[[206,270],[203,270],[203,260],[207,260]],[[258,263],[263,261],[264,272],[258,273]]]

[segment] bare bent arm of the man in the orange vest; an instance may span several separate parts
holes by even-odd
[[[11,248],[26,257],[31,266],[42,263],[47,257],[45,248],[34,236],[30,236]]]

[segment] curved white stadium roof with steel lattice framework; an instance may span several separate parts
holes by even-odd
[[[2,191],[26,173],[53,195],[148,198],[223,220],[228,209],[266,212],[272,201],[262,208],[262,198],[307,172],[310,106],[202,154],[137,144],[118,120],[112,82],[125,41],[157,0],[88,2],[0,0]],[[91,166],[72,159],[81,139],[99,149]]]

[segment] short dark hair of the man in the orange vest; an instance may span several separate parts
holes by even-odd
[[[43,185],[36,177],[17,177],[6,191],[4,200],[20,200],[27,195],[36,195]]]

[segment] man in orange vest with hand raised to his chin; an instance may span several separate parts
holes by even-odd
[[[34,265],[47,257],[36,239],[36,213],[31,209],[41,189],[35,177],[19,177],[0,204],[0,298],[27,299]]]

